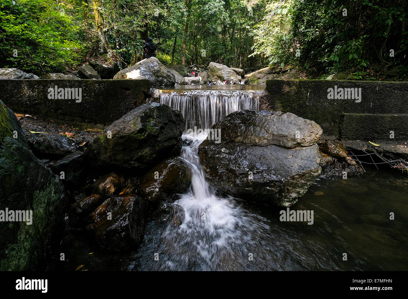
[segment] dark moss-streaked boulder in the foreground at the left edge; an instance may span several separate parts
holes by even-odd
[[[31,152],[16,116],[2,101],[0,186],[0,270],[44,270],[66,195],[60,178]],[[10,211],[28,213],[22,221],[5,222]]]

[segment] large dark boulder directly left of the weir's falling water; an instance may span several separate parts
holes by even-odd
[[[141,105],[95,137],[85,154],[95,167],[145,169],[178,156],[184,119],[167,105]]]

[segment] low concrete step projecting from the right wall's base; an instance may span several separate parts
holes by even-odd
[[[390,138],[408,139],[408,114],[364,114],[343,113],[340,121],[340,136],[348,140]]]

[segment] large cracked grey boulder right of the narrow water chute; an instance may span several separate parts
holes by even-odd
[[[221,143],[204,140],[199,156],[208,182],[233,196],[289,207],[319,177],[322,129],[295,114],[242,110],[213,125]]]

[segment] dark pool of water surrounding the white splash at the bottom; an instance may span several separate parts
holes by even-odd
[[[408,270],[408,180],[406,175],[368,171],[360,177],[321,177],[290,209],[313,210],[314,223],[281,222],[280,208],[236,200],[264,229],[253,232],[250,246],[237,240],[224,257],[203,259],[190,249],[178,270]],[[390,220],[390,213],[395,220]],[[163,248],[166,227],[153,220],[133,253],[109,253],[83,233],[62,241],[66,261],[53,270],[157,270],[154,254]],[[160,249],[161,250],[161,249]],[[168,262],[175,251],[160,253]],[[89,253],[92,253],[91,255]],[[253,260],[248,260],[248,254]],[[347,253],[347,261],[343,254]],[[217,261],[213,263],[212,261]]]

